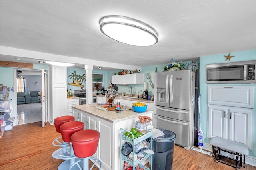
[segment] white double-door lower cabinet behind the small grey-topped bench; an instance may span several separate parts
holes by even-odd
[[[252,109],[208,105],[208,138],[220,137],[253,149]]]

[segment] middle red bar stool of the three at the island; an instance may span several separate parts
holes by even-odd
[[[60,157],[60,159],[64,159],[65,161],[58,166],[58,170],[68,170],[70,165],[74,164],[74,162],[76,162],[77,160],[80,160],[80,158],[77,158],[74,155],[74,150],[72,147],[70,137],[72,136],[73,133],[83,129],[84,129],[84,123],[78,122],[78,121],[66,122],[60,125],[60,133],[62,136],[62,140],[64,142],[70,143],[70,155],[62,154],[62,150],[64,148],[60,150],[60,152],[58,153],[58,157]]]

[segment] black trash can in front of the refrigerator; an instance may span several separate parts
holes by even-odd
[[[153,170],[172,170],[174,140],[176,134],[170,130],[159,129],[164,136],[153,139]]]

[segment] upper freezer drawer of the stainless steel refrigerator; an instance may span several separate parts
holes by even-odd
[[[190,120],[190,111],[188,110],[181,110],[181,109],[173,109],[173,108],[168,108],[168,107],[160,107],[160,106],[155,106],[155,114],[164,116],[164,117],[169,117],[172,119],[178,119],[182,121],[191,121]]]

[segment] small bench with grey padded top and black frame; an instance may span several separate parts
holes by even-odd
[[[210,144],[212,145],[212,153],[214,158],[216,159],[216,162],[221,162],[226,165],[232,166],[236,169],[239,169],[240,166],[242,166],[242,156],[244,157],[243,166],[245,168],[245,155],[249,154],[249,149],[246,146],[246,144],[235,142],[223,138],[214,137],[210,140]],[[230,154],[235,155],[236,158],[232,158],[226,155],[223,155],[220,153],[220,151],[228,152]],[[228,158],[230,160],[234,160],[236,162],[236,166],[234,164],[230,164],[228,162],[225,162],[221,160],[221,158]]]

